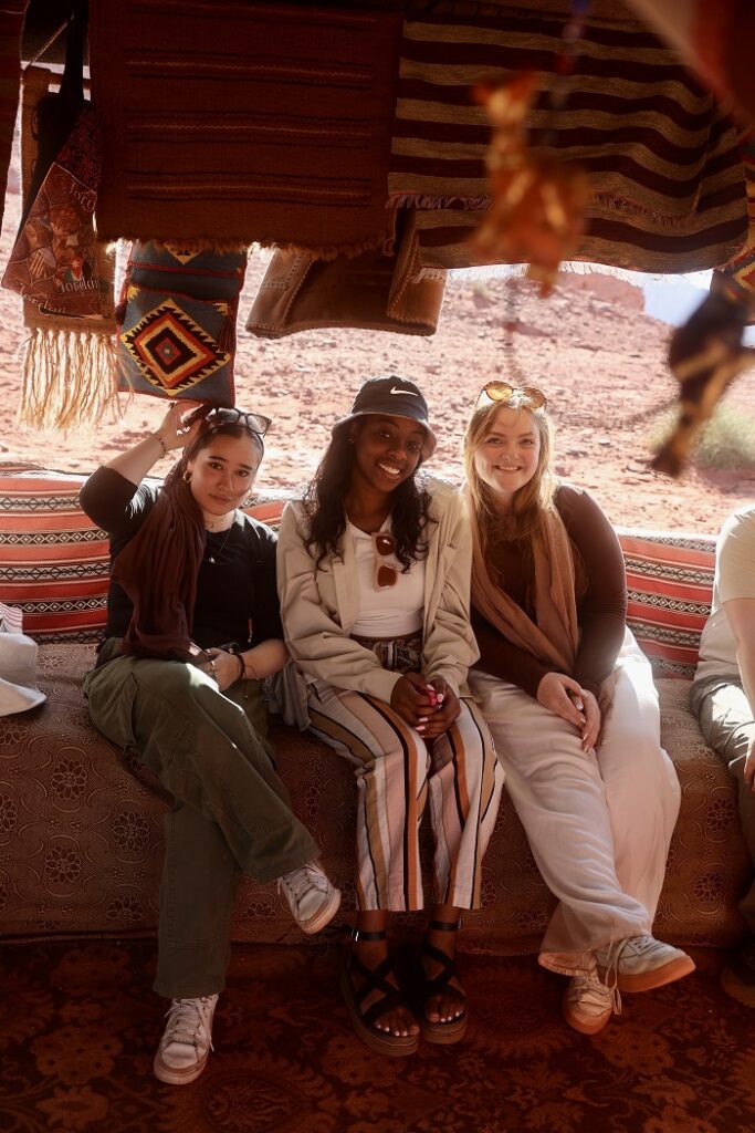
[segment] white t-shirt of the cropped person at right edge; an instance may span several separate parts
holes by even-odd
[[[755,598],[755,506],[735,511],[721,528],[715,547],[711,616],[703,627],[695,683],[720,676],[738,681],[737,644],[724,602]]]

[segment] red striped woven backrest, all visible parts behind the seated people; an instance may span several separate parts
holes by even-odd
[[[86,479],[0,463],[0,599],[24,611],[38,641],[96,641],[105,624],[108,536],[78,506]],[[277,527],[285,497],[249,514]],[[628,623],[664,676],[692,676],[710,611],[713,536],[618,529],[627,569]]]

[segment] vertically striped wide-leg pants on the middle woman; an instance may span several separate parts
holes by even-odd
[[[435,836],[432,900],[480,904],[481,864],[504,774],[471,700],[453,726],[426,741],[383,700],[317,682],[312,731],[354,768],[359,909],[421,909],[419,827],[427,800]]]

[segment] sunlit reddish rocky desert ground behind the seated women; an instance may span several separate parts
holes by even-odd
[[[5,265],[18,198],[9,195],[0,241]],[[461,438],[480,386],[508,376],[503,365],[500,280],[449,283],[440,327],[431,338],[374,331],[321,330],[263,341],[242,326],[264,273],[252,257],[240,307],[237,400],[274,419],[258,487],[293,488],[315,469],[333,420],[348,411],[361,380],[401,373],[424,391],[440,443],[431,469],[461,478]],[[715,531],[741,502],[755,497],[755,471],[689,470],[681,482],[647,467],[647,420],[675,397],[666,366],[670,329],[645,316],[642,295],[604,275],[565,278],[548,299],[517,286],[516,356],[525,380],[547,392],[557,425],[558,471],[589,488],[616,523]],[[138,397],[119,421],[63,436],[15,421],[20,401],[24,329],[18,297],[0,290],[0,458],[88,471],[160,423],[164,403]],[[728,395],[750,417],[755,372]],[[166,470],[168,463],[156,466]]]

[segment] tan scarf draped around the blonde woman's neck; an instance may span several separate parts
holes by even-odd
[[[546,665],[570,674],[576,658],[577,624],[574,559],[564,521],[552,509],[532,538],[534,561],[535,619],[490,577],[482,555],[480,527],[474,504],[466,489],[472,528],[472,603],[512,645],[525,649]]]

